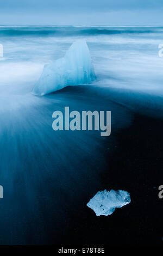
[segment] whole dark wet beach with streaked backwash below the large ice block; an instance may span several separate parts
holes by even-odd
[[[101,92],[69,87],[1,114],[1,245],[162,244],[162,119]],[[54,132],[52,113],[65,106],[111,111],[111,135]],[[86,203],[104,189],[128,191],[131,203],[97,217]]]

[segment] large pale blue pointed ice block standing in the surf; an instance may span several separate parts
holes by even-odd
[[[96,79],[89,48],[85,40],[75,41],[65,57],[46,64],[33,94],[45,95],[66,86],[88,84]]]

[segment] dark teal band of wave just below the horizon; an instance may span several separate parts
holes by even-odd
[[[163,27],[0,27],[0,36],[90,36],[90,35],[116,35],[116,34],[149,34],[160,33]]]

